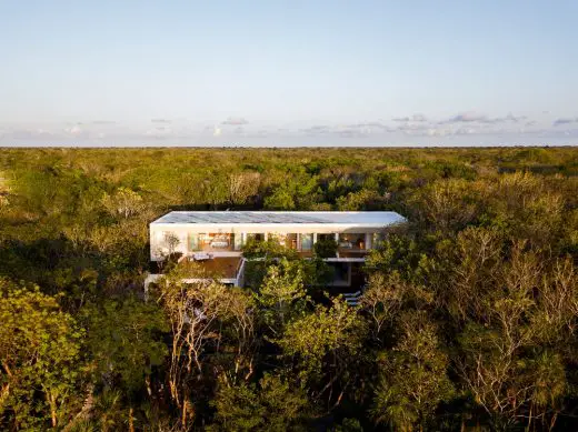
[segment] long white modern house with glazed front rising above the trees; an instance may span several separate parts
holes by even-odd
[[[349,287],[368,251],[405,221],[391,211],[172,211],[150,224],[150,259],[179,253],[221,282],[242,285],[249,240],[275,240],[307,259],[316,242],[331,238],[337,253],[325,260],[336,269],[333,284]]]

